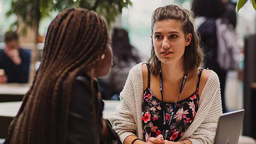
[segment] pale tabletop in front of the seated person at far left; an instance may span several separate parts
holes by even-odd
[[[0,95],[21,95],[24,96],[30,84],[0,84]]]

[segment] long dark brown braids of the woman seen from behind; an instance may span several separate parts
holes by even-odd
[[[98,62],[108,42],[106,22],[96,12],[60,12],[48,27],[40,67],[5,144],[65,144],[73,81]]]

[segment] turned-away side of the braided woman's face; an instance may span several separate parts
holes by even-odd
[[[95,77],[106,76],[110,72],[110,68],[113,65],[113,52],[112,48],[110,47],[110,44],[108,44],[103,55],[104,58],[101,59],[95,66]]]

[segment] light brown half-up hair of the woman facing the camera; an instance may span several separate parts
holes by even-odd
[[[203,50],[200,48],[200,38],[194,28],[194,15],[176,5],[166,5],[157,8],[152,15],[151,20],[151,36],[153,36],[153,29],[158,21],[177,20],[182,24],[183,32],[185,35],[191,33],[192,40],[190,45],[186,46],[184,51],[184,70],[185,73],[195,70],[200,66],[201,61],[204,59]],[[151,48],[151,57],[148,59],[150,63],[150,70],[153,75],[157,76],[160,70],[160,61],[158,60],[154,47]]]

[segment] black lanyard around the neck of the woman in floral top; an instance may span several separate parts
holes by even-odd
[[[163,117],[164,117],[164,129],[163,129],[163,136],[164,136],[164,140],[166,140],[167,138],[167,134],[169,133],[170,131],[170,128],[171,128],[171,120],[173,118],[173,115],[174,115],[174,112],[177,108],[177,103],[179,101],[179,98],[181,96],[181,93],[182,93],[182,90],[184,88],[184,85],[186,83],[186,80],[187,80],[187,74],[184,75],[183,77],[183,82],[182,82],[182,85],[181,85],[181,90],[180,90],[180,93],[179,93],[179,96],[178,96],[178,99],[177,101],[175,102],[175,107],[172,109],[171,111],[171,116],[170,116],[170,120],[169,120],[169,123],[167,124],[166,123],[166,118],[165,118],[165,108],[164,108],[164,100],[163,100],[163,84],[162,84],[162,72],[161,72],[161,66],[160,66],[160,72],[159,72],[159,80],[160,80],[160,92],[161,92],[161,96],[162,96],[162,109],[163,109]]]

